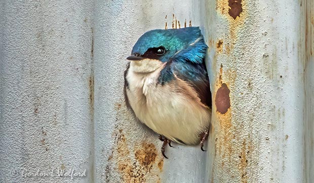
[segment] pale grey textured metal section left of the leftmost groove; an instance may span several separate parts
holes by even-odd
[[[0,182],[73,182],[52,177],[58,168],[93,174],[92,12],[88,1],[1,1]]]

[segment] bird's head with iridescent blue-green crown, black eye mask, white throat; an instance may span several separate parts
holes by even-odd
[[[205,48],[205,51],[197,45]],[[134,71],[145,73],[156,70],[175,57],[199,57],[196,52],[202,50],[202,54],[203,51],[206,54],[206,49],[207,45],[199,27],[155,29],[144,33],[137,40],[127,59],[131,61]]]

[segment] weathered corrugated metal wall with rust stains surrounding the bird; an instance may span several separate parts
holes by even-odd
[[[0,1],[0,182],[314,182],[313,21],[310,0]],[[125,58],[147,30],[190,25],[213,129],[207,152],[164,159],[126,109]],[[71,169],[86,176],[57,176]]]

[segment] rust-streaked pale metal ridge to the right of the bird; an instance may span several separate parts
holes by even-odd
[[[206,9],[208,181],[312,182],[313,3],[217,0]]]

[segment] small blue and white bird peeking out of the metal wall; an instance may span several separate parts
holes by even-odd
[[[171,142],[200,144],[211,125],[212,99],[199,27],[154,29],[139,37],[124,73],[127,107],[159,134],[161,152]]]

